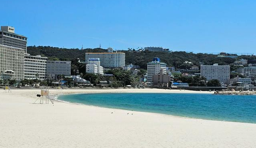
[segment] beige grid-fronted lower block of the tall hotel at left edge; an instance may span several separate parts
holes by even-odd
[[[0,44],[0,79],[24,79],[24,53],[22,48]]]

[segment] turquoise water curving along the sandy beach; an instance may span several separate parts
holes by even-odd
[[[60,95],[58,99],[189,118],[256,123],[256,95],[108,93]]]

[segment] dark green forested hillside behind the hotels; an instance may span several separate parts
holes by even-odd
[[[75,58],[79,58],[80,61],[85,60],[85,53],[91,52],[106,52],[106,49],[66,49],[50,46],[28,46],[27,52],[31,55],[42,55],[52,60],[69,60],[73,61]],[[154,57],[159,57],[161,62],[167,63],[168,66],[175,66],[176,68],[186,67],[184,61],[193,62],[194,65],[199,65],[199,62],[205,64],[219,63],[220,65],[233,63],[237,59],[256,59],[256,56],[239,56],[235,58],[217,57],[215,54],[203,54],[203,53],[186,53],[186,52],[128,52],[125,53],[126,64],[132,63],[133,65],[139,65],[141,68],[146,69],[147,63]]]

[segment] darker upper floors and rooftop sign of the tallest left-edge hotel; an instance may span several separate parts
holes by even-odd
[[[14,27],[1,26],[0,44],[21,48],[27,53],[27,37],[14,33]]]

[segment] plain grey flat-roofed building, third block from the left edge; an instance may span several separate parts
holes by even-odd
[[[57,75],[71,75],[71,61],[47,61],[46,75],[47,78],[55,78]]]

